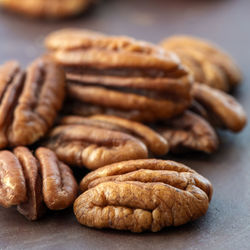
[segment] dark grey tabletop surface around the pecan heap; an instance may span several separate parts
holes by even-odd
[[[209,38],[228,50],[244,73],[236,96],[250,117],[249,0],[105,1],[91,13],[62,22],[28,20],[0,11],[0,63],[26,65],[43,51],[44,36],[82,27],[158,42],[175,33]],[[221,133],[211,156],[177,158],[214,185],[208,213],[196,222],[159,233],[131,234],[80,226],[71,209],[28,222],[14,208],[0,208],[0,249],[250,249],[250,129]]]

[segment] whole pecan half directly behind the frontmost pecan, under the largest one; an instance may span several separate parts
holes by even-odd
[[[147,158],[148,149],[156,155],[168,151],[167,141],[149,127],[105,115],[65,117],[51,131],[45,145],[62,161],[92,170],[114,162]]]

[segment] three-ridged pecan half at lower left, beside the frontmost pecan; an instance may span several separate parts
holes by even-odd
[[[26,147],[0,152],[0,205],[18,205],[29,220],[41,217],[46,207],[69,207],[78,190],[71,169],[51,150],[38,148],[35,155]]]

